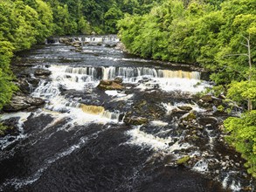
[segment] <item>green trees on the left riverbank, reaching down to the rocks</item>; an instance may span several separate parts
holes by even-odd
[[[17,87],[11,83],[10,58],[13,51],[29,49],[52,34],[52,11],[41,0],[35,9],[24,1],[0,2],[0,109]]]

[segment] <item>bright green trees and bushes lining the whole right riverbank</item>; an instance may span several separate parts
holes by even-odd
[[[118,24],[128,51],[142,57],[198,63],[227,98],[245,106],[225,120],[228,141],[256,176],[256,1],[165,0],[148,14]]]

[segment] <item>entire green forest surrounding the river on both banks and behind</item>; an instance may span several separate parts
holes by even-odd
[[[17,90],[15,52],[50,36],[92,33],[118,33],[130,53],[210,72],[210,92],[245,108],[225,120],[225,131],[256,177],[255,0],[2,0],[0,108]]]

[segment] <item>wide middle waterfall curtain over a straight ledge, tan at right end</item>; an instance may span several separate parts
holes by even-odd
[[[155,69],[150,67],[115,67],[115,66],[84,66],[66,67],[66,76],[75,81],[84,79],[114,79],[121,77],[124,83],[138,83],[142,79],[149,79],[145,84],[140,84],[138,88],[160,87],[165,91],[181,90],[183,92],[197,93],[205,89],[206,84],[200,80],[200,72],[184,72],[181,70],[172,71]]]

